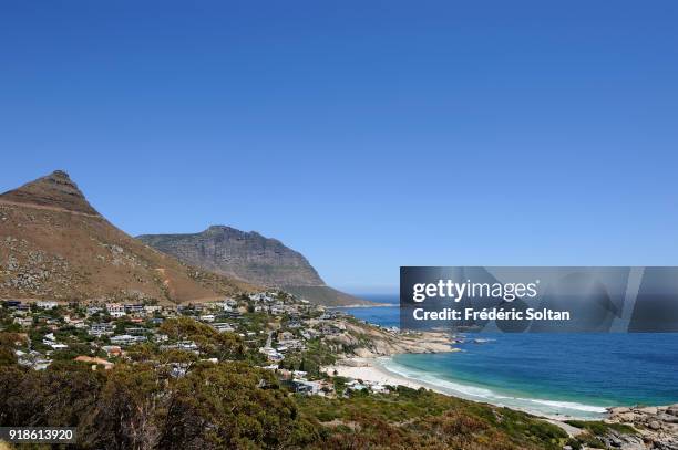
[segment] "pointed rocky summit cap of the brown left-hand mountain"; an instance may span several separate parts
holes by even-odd
[[[7,191],[0,195],[0,200],[99,216],[78,185],[63,170],[54,170],[20,188]]]

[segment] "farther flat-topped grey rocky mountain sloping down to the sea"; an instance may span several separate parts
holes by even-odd
[[[249,283],[279,287],[314,303],[370,303],[327,286],[301,253],[255,231],[213,226],[199,233],[144,234],[137,239],[187,264]]]

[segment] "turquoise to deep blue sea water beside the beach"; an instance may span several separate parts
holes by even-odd
[[[343,311],[399,325],[396,305]],[[610,406],[678,402],[678,334],[466,334],[455,346],[461,352],[379,364],[451,395],[546,416],[596,418]]]

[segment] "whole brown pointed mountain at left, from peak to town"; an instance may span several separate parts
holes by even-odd
[[[0,299],[182,303],[253,289],[127,236],[64,171],[0,195]]]

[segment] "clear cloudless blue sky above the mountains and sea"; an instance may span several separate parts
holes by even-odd
[[[199,4],[198,4],[199,3]],[[678,2],[3,1],[0,190],[399,265],[678,264]]]

